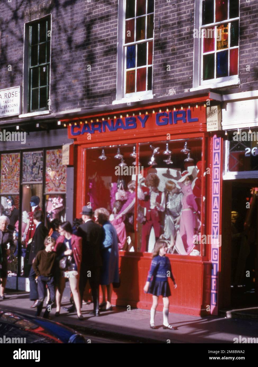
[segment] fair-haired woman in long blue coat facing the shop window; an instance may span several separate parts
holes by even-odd
[[[119,283],[118,269],[118,239],[114,226],[109,222],[109,212],[105,208],[98,208],[94,213],[95,221],[103,226],[105,237],[102,243],[102,270],[100,284],[102,288],[103,300],[99,307],[102,310],[112,310],[111,296],[113,290],[112,283]],[[107,288],[107,301],[106,301]]]

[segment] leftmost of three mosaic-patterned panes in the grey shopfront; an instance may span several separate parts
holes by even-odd
[[[1,194],[20,190],[20,153],[1,154]]]

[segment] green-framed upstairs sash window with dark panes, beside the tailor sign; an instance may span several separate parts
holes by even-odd
[[[29,112],[49,109],[50,27],[50,18],[29,25]]]

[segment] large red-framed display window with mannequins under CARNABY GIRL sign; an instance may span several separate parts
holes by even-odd
[[[136,145],[87,149],[86,204],[109,210],[120,250],[152,252],[162,238],[173,254],[204,254],[202,139],[140,143],[138,161],[136,152]]]

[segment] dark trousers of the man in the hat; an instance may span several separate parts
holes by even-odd
[[[81,266],[80,272],[80,280],[79,280],[79,292],[81,296],[81,304],[82,298],[84,294],[84,290],[89,280],[89,285],[91,286],[91,294],[93,298],[94,311],[99,311],[99,283],[100,283],[100,268],[87,268],[84,267],[83,264]]]

